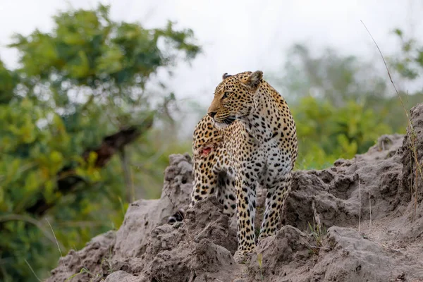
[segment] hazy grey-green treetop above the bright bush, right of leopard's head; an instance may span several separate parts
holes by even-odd
[[[372,63],[355,56],[343,56],[327,48],[319,54],[302,44],[294,44],[288,51],[284,74],[274,78],[286,89],[288,100],[312,95],[326,99],[335,106],[364,97],[381,97],[386,84]]]

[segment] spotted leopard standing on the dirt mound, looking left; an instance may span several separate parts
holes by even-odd
[[[245,262],[257,241],[276,233],[298,157],[295,121],[286,100],[262,71],[223,74],[207,114],[192,137],[193,181],[189,207],[215,195],[235,216]],[[263,221],[255,234],[256,192],[266,189]]]

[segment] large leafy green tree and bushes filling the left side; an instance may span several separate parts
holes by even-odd
[[[192,40],[173,23],[115,22],[102,5],[59,13],[51,32],[14,36],[20,68],[0,62],[0,281],[37,281],[27,263],[48,275],[59,259],[49,223],[66,254],[118,228],[128,195],[159,195],[168,154],[189,147],[170,138],[163,115],[174,97],[145,85],[193,59]],[[149,132],[152,118],[160,123]],[[104,152],[90,149],[129,127],[141,136],[98,165]]]

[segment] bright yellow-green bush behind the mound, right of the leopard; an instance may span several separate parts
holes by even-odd
[[[323,168],[336,159],[350,159],[374,145],[391,128],[363,104],[336,107],[314,97],[303,97],[293,107],[299,142],[298,168]]]

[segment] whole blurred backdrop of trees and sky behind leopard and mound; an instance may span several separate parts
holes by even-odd
[[[423,2],[381,3],[0,0],[0,281],[47,278],[159,197],[223,73],[261,70],[286,97],[295,169],[405,133]]]

